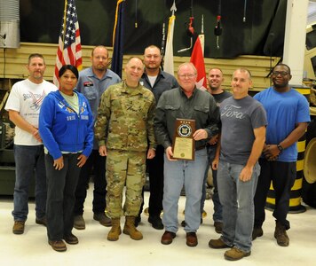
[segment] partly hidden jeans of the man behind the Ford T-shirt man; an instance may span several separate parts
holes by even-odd
[[[203,213],[204,209],[204,202],[206,199],[206,182],[208,179],[209,175],[209,165],[212,163],[215,157],[217,146],[207,146],[207,151],[208,151],[208,164],[205,169],[205,174],[204,174],[204,180],[203,180],[203,186],[202,186],[202,191],[201,191],[201,215]],[[211,166],[210,166],[211,167]],[[218,196],[218,188],[217,188],[217,170],[212,169],[212,176],[213,176],[213,185],[214,185],[214,191],[213,191],[213,205],[214,205],[214,214],[213,214],[213,220],[214,222],[222,222],[223,221],[223,208],[222,205],[220,204],[219,201],[219,196]]]

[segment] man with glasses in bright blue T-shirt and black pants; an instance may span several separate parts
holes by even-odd
[[[268,126],[264,153],[259,159],[261,173],[255,196],[255,225],[252,239],[263,235],[265,200],[273,181],[275,191],[274,238],[278,245],[288,246],[287,220],[289,193],[296,179],[296,142],[304,135],[310,121],[309,105],[299,92],[288,85],[290,68],[285,64],[274,67],[273,86],[258,93],[255,98],[263,104]]]

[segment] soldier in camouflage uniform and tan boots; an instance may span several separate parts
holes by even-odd
[[[156,146],[154,94],[139,84],[143,71],[141,59],[129,59],[125,66],[126,80],[108,87],[102,95],[95,125],[99,154],[107,156],[107,211],[112,218],[107,239],[111,241],[119,239],[122,232],[122,212],[126,216],[123,232],[131,239],[143,239],[134,222],[142,202],[146,158],[154,158]],[[122,210],[124,184],[126,197]]]

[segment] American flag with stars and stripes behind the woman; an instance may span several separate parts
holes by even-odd
[[[59,88],[59,69],[64,65],[73,65],[81,70],[83,58],[80,41],[80,30],[75,9],[75,0],[65,0],[64,17],[59,34],[59,47],[53,77],[54,84]]]

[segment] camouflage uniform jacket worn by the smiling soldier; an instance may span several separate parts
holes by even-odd
[[[145,87],[129,88],[125,82],[109,86],[102,94],[95,137],[107,149],[145,152],[155,148],[154,94]]]

